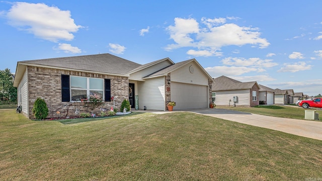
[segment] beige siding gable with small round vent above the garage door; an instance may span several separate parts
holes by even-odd
[[[189,67],[193,66],[194,72],[189,71]],[[198,85],[209,85],[208,77],[205,73],[199,68],[195,62],[191,62],[173,72],[171,72],[171,81],[182,82],[182,83],[191,83]]]

